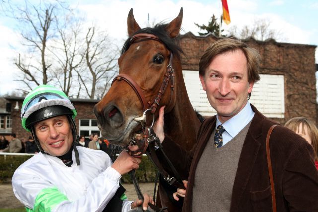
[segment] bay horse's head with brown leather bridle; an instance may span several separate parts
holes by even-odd
[[[169,24],[141,29],[130,10],[127,19],[129,39],[118,59],[119,75],[94,108],[101,134],[113,144],[126,146],[131,138],[139,136],[141,123],[138,117],[146,109],[151,109],[146,113],[147,125],[153,119],[151,113],[158,116],[157,107],[166,105],[167,112],[173,109],[176,101],[173,69],[181,70],[178,57],[181,50],[174,38],[179,35],[181,23],[182,8]],[[182,77],[179,72],[176,77]]]

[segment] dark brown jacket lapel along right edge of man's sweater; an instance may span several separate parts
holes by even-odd
[[[255,112],[252,123],[248,129],[242,152],[239,157],[239,164],[237,173],[234,179],[234,185],[232,190],[231,210],[235,211],[238,208],[243,192],[246,189],[247,182],[251,177],[251,173],[257,158],[261,144],[260,138],[262,135],[262,120],[263,115],[257,111],[253,106],[252,109]]]

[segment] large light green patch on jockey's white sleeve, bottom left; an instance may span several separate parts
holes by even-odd
[[[62,194],[56,187],[46,188],[36,196],[34,208],[26,208],[27,212],[51,212],[56,205],[68,198]]]

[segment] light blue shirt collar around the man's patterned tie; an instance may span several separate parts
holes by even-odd
[[[231,139],[233,139],[254,117],[255,113],[250,106],[250,103],[247,101],[245,107],[231,119],[225,121],[223,124],[220,122],[217,115],[217,124],[216,128],[222,124],[225,131],[222,133],[223,145],[227,144]]]

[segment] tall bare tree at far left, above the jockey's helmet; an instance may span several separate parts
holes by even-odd
[[[28,87],[29,82],[36,85],[47,84],[50,79],[48,71],[51,63],[47,60],[47,43],[54,36],[50,33],[51,24],[54,19],[53,11],[56,9],[54,4],[40,4],[38,7],[25,1],[23,7],[16,6],[14,11],[15,18],[20,24],[23,45],[33,54],[39,54],[39,61],[32,61],[32,58],[21,58],[21,54],[15,60],[15,65],[25,74],[25,79],[19,81],[25,83]],[[22,26],[22,25],[21,25]],[[32,56],[34,56],[32,54]],[[32,61],[32,62],[31,62]],[[35,77],[35,72],[41,73],[40,79]]]

